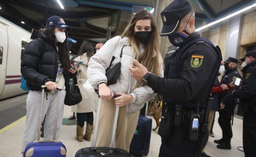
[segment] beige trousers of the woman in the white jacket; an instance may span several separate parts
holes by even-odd
[[[114,100],[102,101],[96,147],[110,146],[115,110],[116,106]],[[126,106],[119,108],[114,148],[121,148],[129,152],[130,143],[133,139],[133,134],[138,124],[138,119],[139,111],[128,115],[126,112]]]

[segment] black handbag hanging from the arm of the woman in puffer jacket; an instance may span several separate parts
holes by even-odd
[[[74,84],[74,86],[72,88],[72,91],[70,91],[70,89],[66,90],[64,104],[68,105],[68,106],[76,105],[82,101],[82,95],[78,88],[78,82],[77,82],[76,77],[73,78],[73,84]]]

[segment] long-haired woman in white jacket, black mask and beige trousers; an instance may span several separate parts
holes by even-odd
[[[122,53],[122,56],[120,56]],[[114,61],[110,66],[112,57]],[[120,58],[121,57],[121,58]],[[110,146],[115,108],[119,106],[119,119],[115,148],[129,151],[137,127],[139,110],[155,97],[154,91],[129,73],[133,60],[139,60],[151,73],[162,76],[162,57],[158,47],[158,29],[152,13],[142,10],[133,15],[121,36],[108,40],[91,57],[87,77],[91,86],[98,89],[102,99],[96,147]],[[115,84],[107,86],[106,69],[121,61],[121,74]],[[113,98],[114,93],[121,95]]]

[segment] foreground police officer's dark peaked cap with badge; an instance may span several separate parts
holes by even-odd
[[[181,20],[192,10],[187,0],[174,0],[161,13],[163,27],[160,36],[168,36],[177,32]]]

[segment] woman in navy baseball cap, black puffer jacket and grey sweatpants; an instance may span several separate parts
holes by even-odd
[[[41,86],[46,85],[43,115],[44,138],[53,138],[53,126],[57,104],[57,90],[62,89],[59,99],[59,117],[56,140],[59,138],[64,111],[65,90],[69,90],[69,78],[76,76],[77,68],[71,69],[67,33],[71,28],[59,16],[52,16],[46,22],[39,38],[32,40],[21,60],[21,74],[30,89],[27,95],[26,129],[23,135],[23,150],[29,142],[37,140],[37,126],[41,106]],[[44,118],[44,116],[43,116]]]

